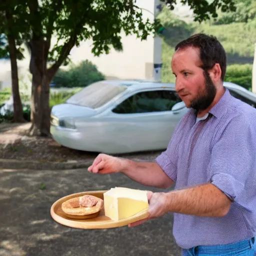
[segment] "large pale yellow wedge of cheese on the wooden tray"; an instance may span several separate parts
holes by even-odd
[[[145,190],[114,187],[103,193],[105,215],[112,220],[130,217],[148,208]]]

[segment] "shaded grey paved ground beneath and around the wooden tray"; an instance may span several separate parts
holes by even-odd
[[[76,229],[55,222],[50,207],[62,196],[114,186],[151,189],[122,174],[73,170],[0,170],[0,256],[180,255],[172,214],[142,225]]]

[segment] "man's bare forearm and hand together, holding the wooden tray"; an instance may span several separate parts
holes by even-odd
[[[215,185],[206,183],[166,193],[148,192],[149,218],[160,217],[167,211],[207,217],[223,217],[232,201]],[[135,226],[145,220],[129,224]]]

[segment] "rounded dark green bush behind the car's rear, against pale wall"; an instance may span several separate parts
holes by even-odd
[[[103,79],[104,75],[92,62],[83,60],[78,65],[71,64],[68,70],[59,69],[53,83],[56,87],[84,87]]]

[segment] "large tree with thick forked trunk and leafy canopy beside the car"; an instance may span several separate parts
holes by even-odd
[[[49,83],[71,48],[82,40],[92,39],[94,55],[108,53],[110,47],[122,50],[121,32],[147,38],[155,24],[143,19],[135,0],[19,0],[11,1],[19,36],[30,49],[29,70],[32,74],[31,134],[49,134]],[[173,8],[175,0],[162,0]],[[181,0],[188,3],[201,21],[216,14],[216,9],[232,10],[233,0]],[[23,29],[26,24],[28,30]],[[8,30],[6,31],[8,32]],[[57,42],[51,45],[52,37]],[[52,46],[52,47],[50,47]]]

